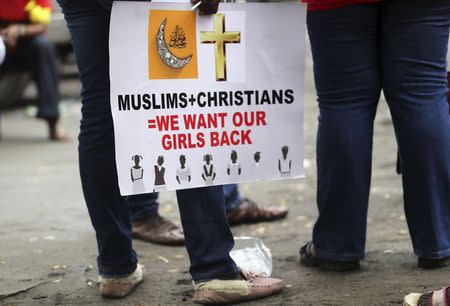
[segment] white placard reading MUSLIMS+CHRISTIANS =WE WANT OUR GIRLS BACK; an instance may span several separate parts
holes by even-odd
[[[305,6],[190,8],[114,3],[121,194],[302,177]]]

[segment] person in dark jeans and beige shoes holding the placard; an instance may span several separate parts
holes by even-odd
[[[80,175],[96,231],[100,292],[104,297],[120,298],[142,282],[143,267],[132,248],[129,198],[120,195],[115,167],[108,47],[113,1],[58,2],[71,33],[82,82]],[[215,13],[218,0],[203,0],[199,8],[202,13]],[[177,198],[195,283],[194,302],[236,303],[282,290],[281,279],[243,271],[231,259],[234,240],[222,186],[181,190]]]

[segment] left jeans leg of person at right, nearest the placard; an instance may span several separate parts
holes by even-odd
[[[380,95],[378,5],[308,12],[319,102],[319,258],[364,257],[373,121]]]

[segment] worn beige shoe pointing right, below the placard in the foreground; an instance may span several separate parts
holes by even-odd
[[[214,279],[194,285],[197,304],[232,304],[268,297],[280,292],[284,282],[263,274],[241,270],[241,279]]]

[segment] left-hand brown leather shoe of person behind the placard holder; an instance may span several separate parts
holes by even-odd
[[[158,212],[151,217],[133,222],[133,237],[165,245],[184,245],[183,231]]]

